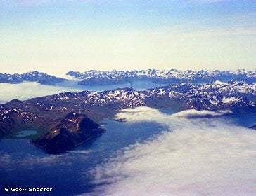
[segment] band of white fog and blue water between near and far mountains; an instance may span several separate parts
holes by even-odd
[[[98,85],[87,86],[77,84],[77,80],[68,80],[56,85],[41,85],[36,82],[25,82],[20,84],[0,83],[0,104],[4,104],[13,99],[26,100],[34,97],[42,97],[51,94],[58,94],[60,92],[82,92],[89,91],[103,91],[115,88],[132,87],[134,90],[146,90],[151,87],[159,87],[164,84],[152,83],[150,81],[134,81],[134,83],[127,83],[122,85]]]

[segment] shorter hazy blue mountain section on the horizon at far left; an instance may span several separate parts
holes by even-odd
[[[17,83],[23,83],[25,81],[28,81],[28,82],[37,82],[44,85],[53,85],[55,83],[60,83],[65,80],[66,79],[50,76],[46,73],[41,73],[38,71],[31,71],[23,74],[0,73],[0,83],[17,84]]]

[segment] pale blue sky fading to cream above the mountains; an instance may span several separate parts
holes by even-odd
[[[0,72],[249,69],[256,1],[1,0]]]

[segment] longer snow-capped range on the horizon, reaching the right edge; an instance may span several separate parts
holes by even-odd
[[[209,83],[215,80],[227,82],[229,80],[243,80],[245,82],[256,82],[256,71],[180,71],[148,69],[141,71],[70,71],[68,76],[80,80],[81,85],[111,85],[121,83],[132,83],[133,80],[151,80],[154,83]]]

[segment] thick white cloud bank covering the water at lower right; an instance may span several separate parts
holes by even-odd
[[[224,113],[230,111],[210,115]],[[205,115],[209,112],[122,110],[116,118],[125,123],[153,121],[169,128],[91,168],[97,188],[84,195],[255,195],[255,130]]]

